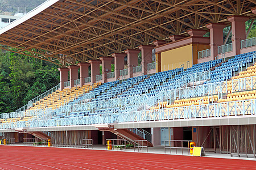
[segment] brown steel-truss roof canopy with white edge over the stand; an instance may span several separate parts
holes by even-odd
[[[0,30],[0,48],[61,67],[109,56],[227,17],[253,0],[49,0]]]

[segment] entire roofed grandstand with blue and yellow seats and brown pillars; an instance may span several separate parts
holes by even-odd
[[[2,137],[193,141],[255,158],[255,3],[46,1],[0,29],[0,48],[55,63],[60,83],[0,114]]]

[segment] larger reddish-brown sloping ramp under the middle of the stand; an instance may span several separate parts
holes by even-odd
[[[145,140],[143,137],[133,133],[133,131],[130,131],[129,129],[115,129],[113,124],[104,124],[104,125],[96,125],[96,128],[100,131],[110,131],[113,134],[117,135],[118,137],[122,139],[126,139],[127,141],[134,143],[135,140]],[[147,141],[147,143],[143,143],[143,145],[146,145],[152,147],[152,143]]]

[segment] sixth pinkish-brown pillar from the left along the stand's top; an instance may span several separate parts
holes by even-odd
[[[125,69],[125,57],[127,54],[123,53],[114,53],[112,54],[115,62],[115,80],[117,80],[120,76],[120,70]]]

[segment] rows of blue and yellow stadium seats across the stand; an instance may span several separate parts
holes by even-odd
[[[218,59],[216,61],[210,61],[205,63],[195,64],[188,69],[177,68],[173,70],[163,71],[160,73],[155,73],[154,75],[141,75],[134,78],[129,78],[126,80],[118,80],[108,83],[94,83],[93,86],[84,85],[80,87],[73,87],[71,89],[64,89],[63,91],[55,91],[52,94],[44,97],[43,99],[36,101],[33,106],[28,109],[28,111],[35,111],[36,109],[57,109],[61,105],[71,105],[79,103],[82,100],[82,95],[88,92],[91,92],[94,96],[88,102],[104,102],[109,99],[121,99],[129,98],[131,96],[140,96],[146,94],[148,97],[157,95],[160,91],[163,90],[173,90],[176,88],[181,88],[184,84],[191,81],[191,75],[194,73],[204,73],[204,71],[210,71],[210,79],[205,80],[203,83],[214,83],[222,82],[227,80],[227,89],[228,93],[219,98],[217,94],[211,94],[206,96],[191,96],[189,98],[177,98],[174,101],[162,101],[155,104],[152,109],[161,109],[161,108],[176,108],[176,107],[185,107],[190,105],[200,105],[200,104],[210,104],[210,103],[225,103],[226,101],[239,101],[239,100],[250,100],[255,99],[256,90],[253,88],[246,88],[245,90],[240,90],[238,87],[233,88],[232,90],[232,81],[233,83],[236,80],[241,78],[250,78],[248,82],[256,83],[256,79],[253,76],[256,76],[256,64],[253,65],[253,55],[255,52],[245,53],[237,55],[233,58],[228,59],[227,61],[222,61]],[[255,55],[254,55],[255,57]],[[248,61],[250,62],[249,67],[245,69]],[[247,62],[247,63],[246,63]],[[243,66],[243,71],[239,74],[234,71],[238,71]],[[232,76],[232,73],[237,73],[235,76]],[[179,82],[180,86],[177,85]],[[126,112],[133,105],[129,105],[126,108],[123,108],[121,111],[119,107],[108,107],[98,108],[94,110],[84,110],[80,109],[75,112],[70,112],[68,114],[59,113],[53,116],[52,118],[72,118],[72,117],[83,117],[83,116],[92,116],[96,114],[106,114],[113,112]],[[182,108],[181,108],[182,109]],[[225,116],[225,115],[224,115]],[[16,121],[27,121],[32,116],[27,117],[15,117],[15,118],[2,118],[0,119],[1,123],[5,122],[16,122]]]

